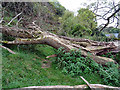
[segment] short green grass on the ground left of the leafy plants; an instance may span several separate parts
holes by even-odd
[[[35,47],[35,48],[33,48]],[[85,82],[80,78],[64,75],[52,63],[50,68],[41,68],[41,61],[46,56],[55,54],[52,47],[31,45],[12,48],[17,54],[3,50],[2,88],[21,88],[28,86],[48,85],[81,85]],[[34,51],[34,52],[33,52]],[[53,60],[51,58],[49,60]],[[103,83],[99,75],[85,74],[83,77],[91,84]]]

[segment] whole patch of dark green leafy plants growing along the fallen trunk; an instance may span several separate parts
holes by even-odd
[[[65,74],[75,77],[96,73],[103,78],[104,83],[107,85],[119,86],[120,84],[120,71],[117,64],[107,63],[105,66],[99,65],[91,58],[81,56],[80,50],[71,50],[68,53],[63,48],[59,48],[57,56],[55,63]]]

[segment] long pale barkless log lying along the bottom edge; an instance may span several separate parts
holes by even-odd
[[[113,87],[113,86],[107,86],[102,84],[90,84],[92,86],[92,89],[97,90],[120,90],[120,87]],[[29,90],[29,89],[86,89],[87,85],[77,85],[77,86],[65,86],[65,85],[55,85],[55,86],[29,86],[29,87],[23,87],[23,88],[16,88],[11,90]]]

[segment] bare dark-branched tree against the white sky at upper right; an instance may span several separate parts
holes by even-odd
[[[102,31],[108,25],[115,23],[114,27],[119,25],[118,13],[120,11],[119,3],[115,3],[114,0],[97,0],[91,3],[87,7],[92,10],[97,18],[97,21],[102,20],[103,23],[100,24],[99,30]]]

